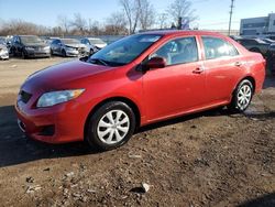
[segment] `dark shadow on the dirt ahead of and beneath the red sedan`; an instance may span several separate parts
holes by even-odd
[[[210,110],[191,116],[185,116],[160,123],[140,128],[136,133],[175,124],[201,116],[221,116],[222,111]],[[0,167],[22,164],[31,161],[54,157],[80,156],[101,153],[90,148],[86,142],[68,144],[47,144],[25,137],[16,123],[16,115],[13,106],[0,107]]]

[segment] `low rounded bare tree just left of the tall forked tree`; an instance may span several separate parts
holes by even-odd
[[[105,26],[105,33],[109,35],[124,35],[128,33],[128,30],[125,28],[127,20],[123,13],[116,12],[112,13],[107,20],[106,20],[106,26]]]

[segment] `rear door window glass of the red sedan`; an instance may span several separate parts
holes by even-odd
[[[237,48],[222,39],[202,36],[202,42],[207,59],[239,55]]]

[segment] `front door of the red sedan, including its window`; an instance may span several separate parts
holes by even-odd
[[[151,69],[143,77],[148,121],[191,111],[205,103],[206,77],[197,37],[168,41],[147,59],[154,56],[165,58],[167,65]]]

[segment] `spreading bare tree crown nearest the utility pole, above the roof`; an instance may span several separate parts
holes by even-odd
[[[195,10],[191,9],[191,1],[189,0],[174,0],[167,10],[167,13],[170,15],[174,23],[177,23],[179,18],[188,18],[189,22],[197,19]]]

